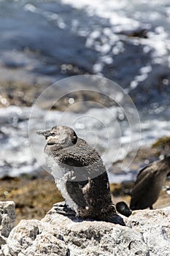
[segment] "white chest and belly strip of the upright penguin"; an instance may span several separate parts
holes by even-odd
[[[66,200],[66,205],[68,205],[72,210],[77,212],[77,204],[72,200],[72,195],[69,195],[69,192],[66,189],[66,181],[68,181],[69,176],[72,173],[72,170],[69,170],[66,167],[58,165],[53,157],[47,157],[47,164],[52,170],[52,175],[55,179],[55,184],[61,192],[61,195]]]

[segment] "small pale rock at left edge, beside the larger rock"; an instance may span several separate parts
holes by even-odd
[[[15,203],[0,202],[0,248],[6,244],[7,237],[15,226]]]

